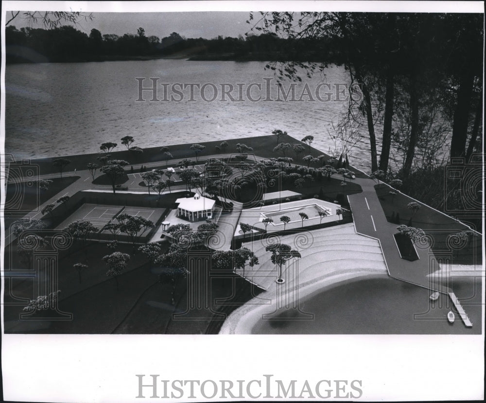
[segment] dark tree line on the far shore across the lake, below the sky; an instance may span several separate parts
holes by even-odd
[[[7,63],[81,62],[151,58],[171,55],[215,60],[317,60],[323,53],[337,59],[336,49],[326,39],[296,41],[275,33],[243,37],[218,36],[213,39],[185,38],[176,32],[159,38],[137,34],[102,34],[92,29],[90,34],[70,25],[52,29],[5,28]]]

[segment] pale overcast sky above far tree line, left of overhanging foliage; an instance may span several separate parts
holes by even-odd
[[[218,35],[244,35],[251,26],[246,23],[249,12],[172,12],[172,13],[93,13],[93,20],[79,22],[77,29],[88,35],[96,28],[104,34],[137,34],[142,27],[145,36],[159,38],[173,32],[188,38],[214,38]],[[27,26],[21,16],[11,22],[17,28]],[[33,25],[33,27],[41,27]]]

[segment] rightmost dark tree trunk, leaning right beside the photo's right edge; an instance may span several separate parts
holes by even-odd
[[[464,157],[468,138],[469,106],[471,103],[474,73],[466,69],[461,77],[457,105],[452,123],[451,158]]]

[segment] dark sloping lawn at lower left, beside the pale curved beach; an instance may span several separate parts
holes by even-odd
[[[217,333],[222,320],[211,321],[205,317],[205,312],[196,311],[199,320],[173,320],[174,312],[184,312],[187,309],[187,281],[179,281],[175,293],[176,304],[171,303],[172,285],[161,283],[158,273],[160,268],[147,261],[140,252],[132,255],[128,268],[116,281],[106,276],[107,267],[102,261],[103,256],[113,250],[106,244],[92,242],[86,247],[73,245],[62,254],[59,260],[59,282],[61,290],[59,309],[73,314],[72,321],[25,321],[20,324],[18,315],[22,306],[4,306],[5,333]],[[6,264],[9,267],[26,269],[21,263],[15,247],[6,248]],[[132,254],[121,245],[118,250]],[[87,264],[82,273],[81,282],[78,272],[72,267],[75,263]],[[231,298],[232,282],[238,291]],[[10,280],[8,280],[10,285]],[[16,297],[32,298],[34,283],[31,279],[21,278],[12,282]],[[226,273],[226,277],[211,280],[211,305],[216,311],[226,315],[252,298],[252,286],[239,276]],[[255,291],[255,295],[259,291]],[[216,298],[230,298],[236,305],[216,305]],[[5,302],[12,299],[6,296]],[[27,326],[27,327],[26,327]]]

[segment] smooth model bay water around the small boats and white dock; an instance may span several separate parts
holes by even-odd
[[[253,334],[481,334],[481,278],[454,279],[454,293],[473,323],[464,326],[441,295],[431,301],[431,291],[395,279],[351,280],[318,292],[301,301],[303,312],[313,320],[292,320],[280,314],[277,320],[260,320]],[[455,312],[454,323],[447,313]]]

